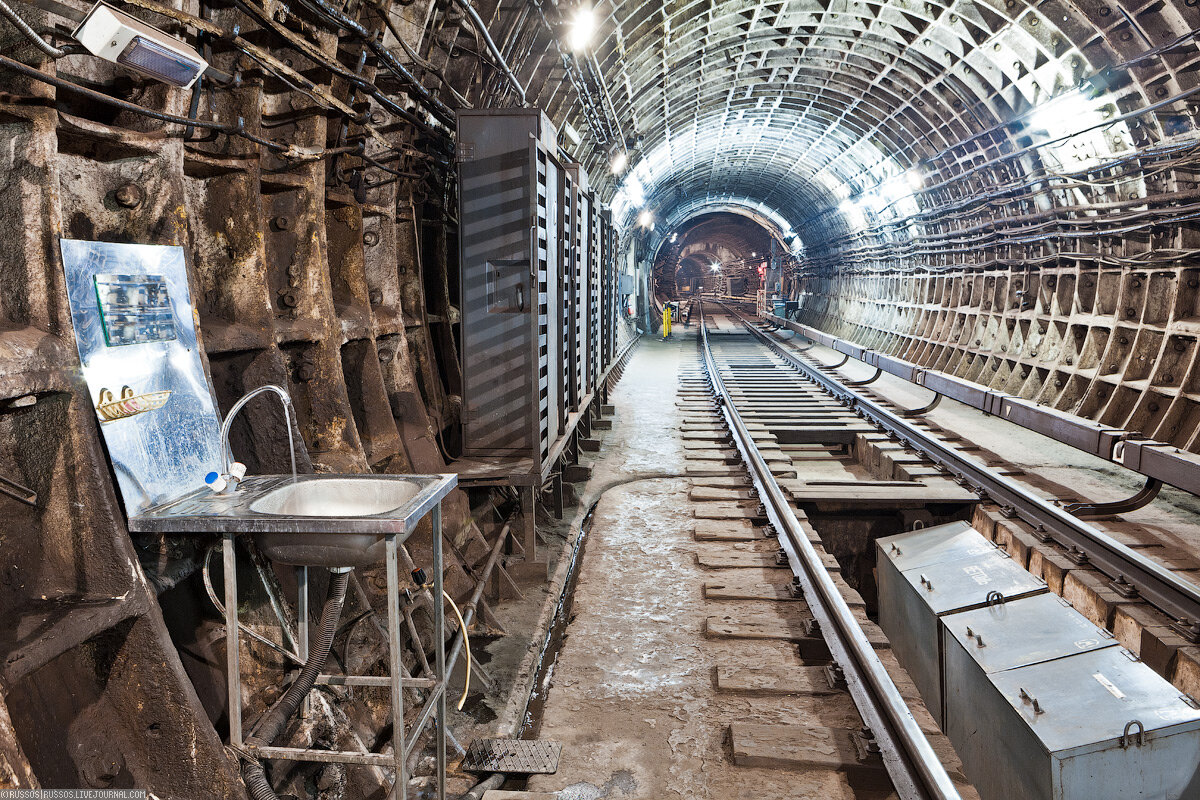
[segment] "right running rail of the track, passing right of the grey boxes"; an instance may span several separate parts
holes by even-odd
[[[1055,541],[1073,553],[1081,553],[1088,564],[1112,581],[1133,585],[1147,602],[1176,620],[1172,627],[1177,632],[1193,642],[1200,640],[1200,587],[1182,579],[1164,565],[1122,545],[1066,510],[1033,495],[1021,483],[966,458],[953,447],[914,427],[899,413],[863,397],[835,378],[822,373],[799,355],[790,353],[781,343],[749,323],[739,312],[730,309],[730,313],[767,347],[845,405],[920,450],[979,494],[1012,509],[1015,516],[1033,525],[1040,539]]]

